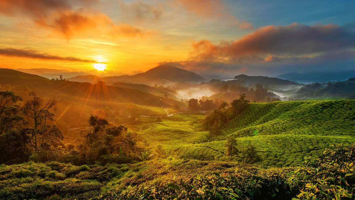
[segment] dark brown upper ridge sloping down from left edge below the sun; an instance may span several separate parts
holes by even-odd
[[[23,73],[13,69],[0,68],[0,84],[9,84],[11,86],[27,85],[29,91],[35,91],[39,96],[48,98],[57,96],[58,98],[75,102],[78,102],[79,100],[77,99],[80,98],[85,101],[122,102],[158,107],[172,107],[173,104],[180,104],[180,101],[170,98],[162,99],[161,96],[128,87],[122,88],[105,84],[49,80],[38,75]]]

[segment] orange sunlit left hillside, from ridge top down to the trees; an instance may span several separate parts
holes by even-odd
[[[0,69],[0,85],[2,85],[1,90],[14,90],[25,100],[29,91],[35,91],[43,98],[62,100],[55,114],[59,117],[57,122],[63,125],[61,127],[63,131],[65,131],[64,127],[86,126],[88,117],[95,110],[105,107],[108,107],[116,116],[128,116],[133,112],[135,115],[165,116],[166,111],[162,106],[173,107],[174,104],[185,106],[180,101],[161,98],[136,89],[102,83],[49,80],[38,75],[8,69]],[[11,88],[6,85],[10,85]]]

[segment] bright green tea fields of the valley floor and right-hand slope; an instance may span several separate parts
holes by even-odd
[[[197,114],[174,114],[159,124],[130,128],[185,159],[224,159],[224,138],[233,136],[238,149],[252,144],[262,163],[271,166],[300,165],[304,157],[321,153],[329,144],[355,142],[355,100],[252,103],[225,125],[220,140],[212,142],[204,142],[208,132],[195,124],[206,115]]]

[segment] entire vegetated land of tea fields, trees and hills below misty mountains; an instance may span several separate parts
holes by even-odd
[[[63,88],[0,86],[0,199],[354,196],[355,100],[279,101],[256,84],[220,90],[265,103],[184,102],[18,75]]]

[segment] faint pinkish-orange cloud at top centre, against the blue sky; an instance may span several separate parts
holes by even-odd
[[[240,29],[253,29],[250,22],[236,19],[221,0],[176,0],[187,11],[204,19],[223,19]]]

